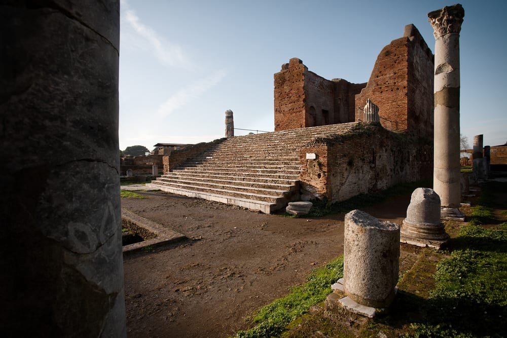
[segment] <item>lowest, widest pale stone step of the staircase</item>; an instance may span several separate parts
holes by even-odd
[[[201,198],[208,201],[215,201],[225,204],[232,204],[237,205],[243,208],[248,208],[250,210],[259,210],[263,213],[270,214],[271,212],[278,210],[282,206],[279,206],[276,203],[271,202],[264,202],[264,201],[258,201],[255,199],[249,199],[249,198],[238,198],[234,196],[227,196],[227,195],[221,195],[221,194],[215,194],[210,192],[202,192],[202,191],[195,191],[195,190],[187,190],[187,189],[181,189],[178,187],[173,186],[163,186],[159,184],[153,184],[148,183],[146,184],[151,189],[159,189],[168,193],[176,194],[176,195],[182,195],[182,196],[188,196],[193,198]]]

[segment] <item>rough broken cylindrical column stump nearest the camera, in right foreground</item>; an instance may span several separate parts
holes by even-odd
[[[400,257],[400,226],[353,210],[345,215],[343,279],[354,302],[386,308],[394,299]]]

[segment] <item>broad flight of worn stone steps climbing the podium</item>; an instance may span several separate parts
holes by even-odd
[[[271,213],[299,195],[299,149],[356,123],[236,136],[147,184],[152,189]]]

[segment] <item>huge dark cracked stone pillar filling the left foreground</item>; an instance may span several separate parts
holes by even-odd
[[[119,1],[2,4],[2,333],[125,336]]]

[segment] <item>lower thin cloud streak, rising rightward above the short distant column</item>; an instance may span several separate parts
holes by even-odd
[[[204,94],[208,89],[216,86],[220,81],[226,77],[227,73],[224,69],[213,72],[210,76],[199,80],[192,85],[179,90],[176,94],[167,99],[158,108],[158,114],[161,117],[166,117],[173,111],[187,105],[191,100],[194,100]]]

